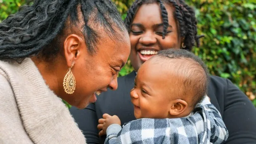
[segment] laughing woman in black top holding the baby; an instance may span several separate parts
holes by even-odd
[[[117,115],[121,125],[135,120],[130,90],[139,67],[159,50],[175,48],[191,50],[199,46],[194,10],[183,0],[135,0],[128,10],[126,26],[130,36],[130,60],[134,72],[119,77],[117,91],[97,97],[86,109],[70,109],[88,143],[103,144],[99,137],[98,119],[107,113]],[[154,69],[154,67],[152,67]],[[228,128],[226,144],[256,143],[256,109],[242,91],[228,79],[211,76],[208,86],[211,103],[220,111]],[[90,117],[90,118],[88,118]]]

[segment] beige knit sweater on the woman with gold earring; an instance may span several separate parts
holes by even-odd
[[[0,144],[86,144],[30,58],[0,61]]]

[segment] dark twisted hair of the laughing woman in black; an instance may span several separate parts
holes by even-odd
[[[161,17],[163,19],[164,30],[163,39],[165,38],[166,31],[168,28],[168,14],[165,4],[172,4],[175,8],[174,16],[178,21],[178,28],[180,37],[184,37],[185,49],[191,51],[192,47],[197,44],[200,46],[199,38],[204,37],[203,35],[197,36],[197,20],[195,17],[194,9],[188,6],[183,0],[135,0],[133,5],[129,8],[125,19],[126,28],[130,32],[130,27],[137,9],[142,4],[159,3],[161,9]]]

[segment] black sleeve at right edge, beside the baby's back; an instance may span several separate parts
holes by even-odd
[[[256,108],[228,79],[227,84],[223,120],[229,137],[225,144],[256,144]]]

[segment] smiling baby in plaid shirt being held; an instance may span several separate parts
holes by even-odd
[[[106,144],[220,144],[228,130],[206,95],[209,73],[193,53],[168,49],[147,60],[130,91],[137,120],[99,119]]]

